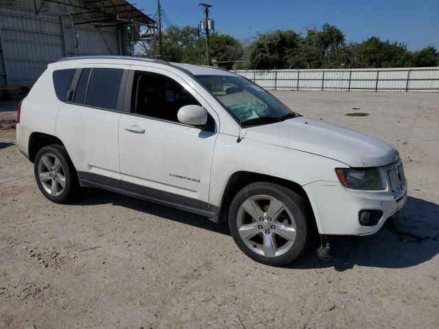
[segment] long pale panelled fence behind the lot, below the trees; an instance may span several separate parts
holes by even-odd
[[[439,92],[439,66],[398,69],[237,70],[269,90]]]

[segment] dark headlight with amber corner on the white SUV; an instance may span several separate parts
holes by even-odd
[[[385,188],[378,168],[337,168],[340,182],[355,190],[383,190]]]

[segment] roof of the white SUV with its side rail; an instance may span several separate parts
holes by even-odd
[[[194,65],[194,64],[182,64],[174,62],[166,62],[165,60],[160,60],[156,58],[146,58],[139,56],[75,56],[75,57],[65,57],[58,60],[59,62],[73,60],[93,60],[99,62],[99,60],[115,60],[119,64],[123,62],[130,61],[140,61],[140,62],[151,62],[154,64],[162,64],[167,66],[174,66],[177,69],[191,73],[192,75],[231,75],[236,76],[235,73],[226,71],[225,69],[220,69],[213,66],[205,65]],[[126,63],[126,64],[139,64],[139,63]]]

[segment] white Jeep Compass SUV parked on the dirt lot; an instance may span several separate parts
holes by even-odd
[[[18,111],[20,150],[53,202],[93,186],[228,221],[239,248],[283,265],[311,228],[377,232],[406,199],[392,145],[302,117],[239,75],[130,57],[49,64]]]

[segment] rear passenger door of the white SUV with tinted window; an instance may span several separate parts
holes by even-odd
[[[118,125],[128,65],[82,65],[58,112],[56,134],[82,179],[120,187]]]

